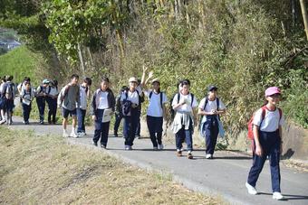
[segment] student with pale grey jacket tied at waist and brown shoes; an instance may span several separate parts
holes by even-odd
[[[188,145],[188,159],[193,159],[192,134],[194,132],[194,109],[197,99],[189,92],[190,81],[184,79],[180,83],[180,91],[172,100],[172,108],[176,114],[173,121],[173,133],[176,135],[177,155],[182,156],[183,142]]]

